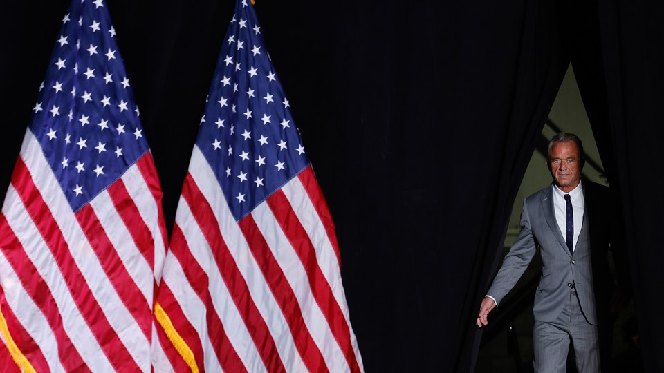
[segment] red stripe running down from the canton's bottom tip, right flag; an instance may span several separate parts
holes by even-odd
[[[288,327],[291,328],[295,347],[309,372],[329,372],[325,365],[325,360],[316,345],[309,329],[302,318],[302,310],[299,308],[299,302],[293,293],[291,285],[288,283],[279,262],[270,251],[268,242],[266,242],[261,231],[259,231],[253,216],[248,215],[239,222],[240,228],[244,233],[249,244],[251,253],[258,263],[263,275],[275,294],[275,300],[282,309],[286,318]]]

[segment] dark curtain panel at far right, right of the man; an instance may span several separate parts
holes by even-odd
[[[646,372],[663,372],[664,4],[598,1],[608,115]]]

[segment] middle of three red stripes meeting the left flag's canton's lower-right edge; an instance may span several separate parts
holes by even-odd
[[[124,187],[122,179],[118,179],[107,188],[107,191],[113,200],[113,206],[116,207],[118,215],[127,226],[133,242],[138,247],[138,251],[145,257],[150,269],[154,272],[154,238],[143,217],[138,213],[138,207],[127,192],[127,187]]]

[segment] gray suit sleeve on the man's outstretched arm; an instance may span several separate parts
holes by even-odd
[[[521,212],[521,230],[519,236],[503,259],[496,278],[493,280],[487,295],[494,298],[499,305],[501,300],[514,287],[519,278],[524,274],[528,264],[535,256],[537,245],[531,231],[531,219],[528,213],[528,200],[524,201]]]

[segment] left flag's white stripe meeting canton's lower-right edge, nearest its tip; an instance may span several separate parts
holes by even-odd
[[[113,245],[116,253],[118,253],[120,260],[122,260],[122,265],[127,269],[129,276],[131,276],[133,282],[140,289],[147,304],[152,307],[152,270],[145,257],[140,253],[138,247],[136,247],[136,242],[133,241],[133,237],[129,233],[127,226],[122,222],[120,214],[113,206],[111,195],[104,190],[90,204],[111,245]],[[127,300],[129,302],[132,301],[131,299]]]

